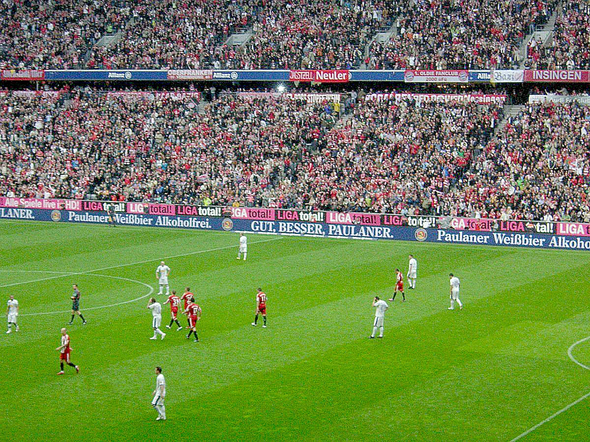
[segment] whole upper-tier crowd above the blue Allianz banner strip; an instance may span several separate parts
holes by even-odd
[[[552,57],[565,64],[573,54],[581,66],[588,1],[565,4]],[[4,0],[0,68],[512,68],[523,37],[554,8],[555,0]],[[397,34],[365,54],[395,21]],[[253,35],[228,45],[238,31]]]

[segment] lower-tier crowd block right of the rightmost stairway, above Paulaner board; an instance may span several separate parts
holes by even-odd
[[[590,107],[529,104],[474,161],[463,204],[481,217],[590,222]]]

